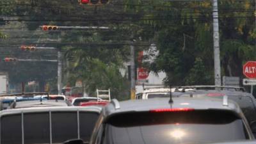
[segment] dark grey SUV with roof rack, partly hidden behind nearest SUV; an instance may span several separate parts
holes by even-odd
[[[215,89],[216,90],[212,90]],[[176,92],[176,97],[211,97],[223,99],[224,95],[228,99],[234,100],[242,109],[244,116],[247,118],[253,133],[256,134],[256,100],[251,93],[247,93],[243,88],[231,86],[181,86]]]

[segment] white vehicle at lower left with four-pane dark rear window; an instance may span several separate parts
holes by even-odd
[[[1,144],[89,141],[100,115],[99,107],[38,107],[0,112]]]

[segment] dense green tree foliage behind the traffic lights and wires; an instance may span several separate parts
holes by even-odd
[[[243,77],[243,63],[255,60],[254,5],[249,0],[218,3],[222,76]],[[138,44],[136,52],[156,44],[158,55],[147,67],[153,72],[166,72],[168,83],[214,82],[211,1],[112,0],[110,4],[92,6],[80,5],[77,1],[3,0],[0,1],[0,14],[10,19],[0,19],[0,23],[5,24],[1,28],[20,28],[23,31],[1,33],[0,37],[6,38],[1,40],[3,44],[43,42],[47,45],[60,40],[55,45],[65,53],[63,61],[68,63],[64,63],[67,67],[63,77],[68,76],[64,84],[74,85],[77,79],[82,79],[86,91],[91,95],[96,88],[111,88],[113,95],[118,98],[123,93],[127,95],[129,81],[120,71],[124,63],[129,61],[131,42]],[[107,26],[109,29],[61,29],[42,33],[40,26],[44,24]],[[15,36],[20,38],[13,38]],[[58,45],[60,42],[68,45]],[[1,51],[3,56],[24,56],[17,51]],[[44,54],[47,55],[47,52],[34,56],[49,58]],[[13,65],[20,68],[20,72],[13,70]],[[55,67],[51,65],[13,65],[6,65],[6,69],[15,71],[12,78],[19,81],[44,79],[47,82],[47,79],[56,79]],[[33,70],[22,70],[22,67]]]

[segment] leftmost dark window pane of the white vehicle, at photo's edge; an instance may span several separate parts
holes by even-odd
[[[21,115],[3,116],[1,118],[1,144],[22,143]]]

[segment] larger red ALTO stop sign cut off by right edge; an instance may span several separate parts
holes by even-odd
[[[244,76],[256,78],[256,61],[247,61],[243,67]]]

